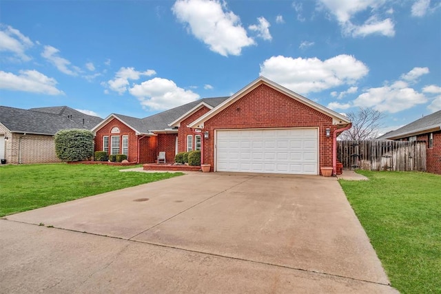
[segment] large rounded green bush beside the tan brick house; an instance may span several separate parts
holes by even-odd
[[[94,134],[87,129],[62,129],[54,141],[55,153],[63,161],[81,161],[94,154]]]

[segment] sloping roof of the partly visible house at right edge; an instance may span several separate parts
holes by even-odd
[[[378,139],[391,139],[396,140],[400,138],[406,138],[410,136],[416,136],[418,134],[424,134],[429,132],[435,132],[441,130],[441,110],[438,112],[434,112],[433,114],[429,114],[428,116],[424,116],[418,120],[409,123],[408,125],[404,125],[404,127],[400,127],[400,129],[396,129],[395,131],[391,131],[386,133]]]

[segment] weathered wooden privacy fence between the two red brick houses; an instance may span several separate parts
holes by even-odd
[[[338,141],[345,169],[426,171],[426,143],[392,140]]]

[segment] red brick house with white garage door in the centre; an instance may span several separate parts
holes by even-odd
[[[336,171],[336,136],[349,119],[267,78],[230,97],[205,98],[147,118],[111,114],[92,129],[95,150],[129,161],[167,162],[179,151],[201,150],[212,171],[320,174]]]

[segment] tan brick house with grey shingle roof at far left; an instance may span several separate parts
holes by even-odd
[[[54,134],[61,129],[92,129],[101,120],[67,106],[0,106],[0,159],[12,164],[59,162]]]

